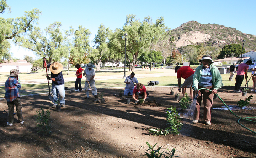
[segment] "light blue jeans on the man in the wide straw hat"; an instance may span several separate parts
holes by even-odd
[[[58,101],[58,95],[60,98],[60,104],[64,105],[65,104],[65,85],[56,85],[52,82],[52,95],[53,95],[53,103],[57,105]]]

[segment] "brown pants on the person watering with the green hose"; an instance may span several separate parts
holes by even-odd
[[[213,90],[212,86],[209,87],[202,87],[202,86],[198,86],[198,89],[201,88],[206,88],[206,89],[210,89]],[[196,108],[194,110],[194,118],[193,119],[199,119],[200,116],[200,105],[203,99],[203,104],[204,104],[204,121],[211,121],[211,113],[210,113],[210,109],[212,107],[213,104],[213,93],[209,90],[205,90],[202,89],[198,92],[198,98],[197,98],[197,103],[196,103]]]

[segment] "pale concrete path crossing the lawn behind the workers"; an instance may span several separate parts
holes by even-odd
[[[136,71],[149,71],[150,69],[136,69]],[[101,70],[101,71],[110,71],[110,70]],[[111,71],[120,71],[120,70],[111,70]],[[147,77],[161,77],[161,76],[176,76],[174,69],[153,69],[151,71],[155,72],[162,72],[162,73],[155,73],[155,74],[136,74],[136,78],[147,78]],[[126,77],[130,75],[130,72],[126,72]],[[123,79],[124,75],[109,75],[109,76],[97,76],[95,75],[95,80],[110,80],[110,79]],[[76,77],[64,77],[65,82],[75,81]],[[85,80],[83,76],[82,80]],[[51,81],[49,81],[51,83]],[[48,83],[47,79],[30,79],[30,80],[21,80],[21,84],[42,84]],[[5,81],[0,81],[0,86],[5,86]]]

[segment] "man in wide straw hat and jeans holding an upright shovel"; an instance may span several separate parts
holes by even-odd
[[[46,58],[43,58],[43,62],[46,61]],[[45,64],[43,63],[43,68],[45,68]],[[52,95],[53,95],[53,106],[55,108],[58,102],[58,95],[60,99],[61,107],[65,106],[65,81],[62,75],[62,64],[58,62],[53,62],[52,64],[47,64],[47,68],[50,68],[51,77],[46,76],[47,80],[52,80]],[[46,69],[47,71],[47,69]]]

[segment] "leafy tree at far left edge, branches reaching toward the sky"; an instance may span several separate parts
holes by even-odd
[[[10,6],[6,0],[0,1],[0,14],[10,10]],[[9,52],[11,45],[10,40],[16,42],[16,37],[29,33],[33,29],[33,24],[38,20],[41,12],[34,8],[31,11],[25,11],[24,16],[17,18],[2,18],[0,17],[0,62],[5,59],[10,59]]]

